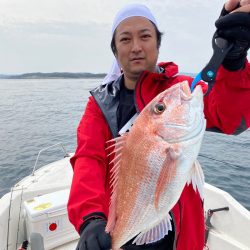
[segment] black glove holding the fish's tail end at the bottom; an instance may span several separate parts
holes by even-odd
[[[81,227],[76,250],[110,250],[111,237],[105,232],[107,222],[103,219],[89,219]]]

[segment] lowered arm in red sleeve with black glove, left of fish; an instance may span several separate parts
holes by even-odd
[[[94,101],[89,98],[77,130],[77,149],[70,162],[73,179],[68,200],[68,216],[80,234],[77,250],[111,248],[105,232],[109,206],[106,141],[111,133]]]

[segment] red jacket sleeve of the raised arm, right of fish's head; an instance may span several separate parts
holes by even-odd
[[[237,134],[250,127],[250,63],[243,70],[221,67],[216,83],[204,98],[207,129]]]

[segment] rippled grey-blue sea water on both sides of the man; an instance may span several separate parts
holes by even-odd
[[[74,152],[89,90],[100,79],[0,80],[0,197],[32,172],[38,152],[62,143]],[[38,168],[63,157],[50,149]],[[199,155],[206,182],[250,210],[250,130],[238,136],[206,132]]]

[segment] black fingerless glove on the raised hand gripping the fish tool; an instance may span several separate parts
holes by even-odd
[[[215,26],[218,36],[234,44],[222,65],[230,71],[242,69],[250,47],[250,13],[235,12],[229,14],[223,7]]]

